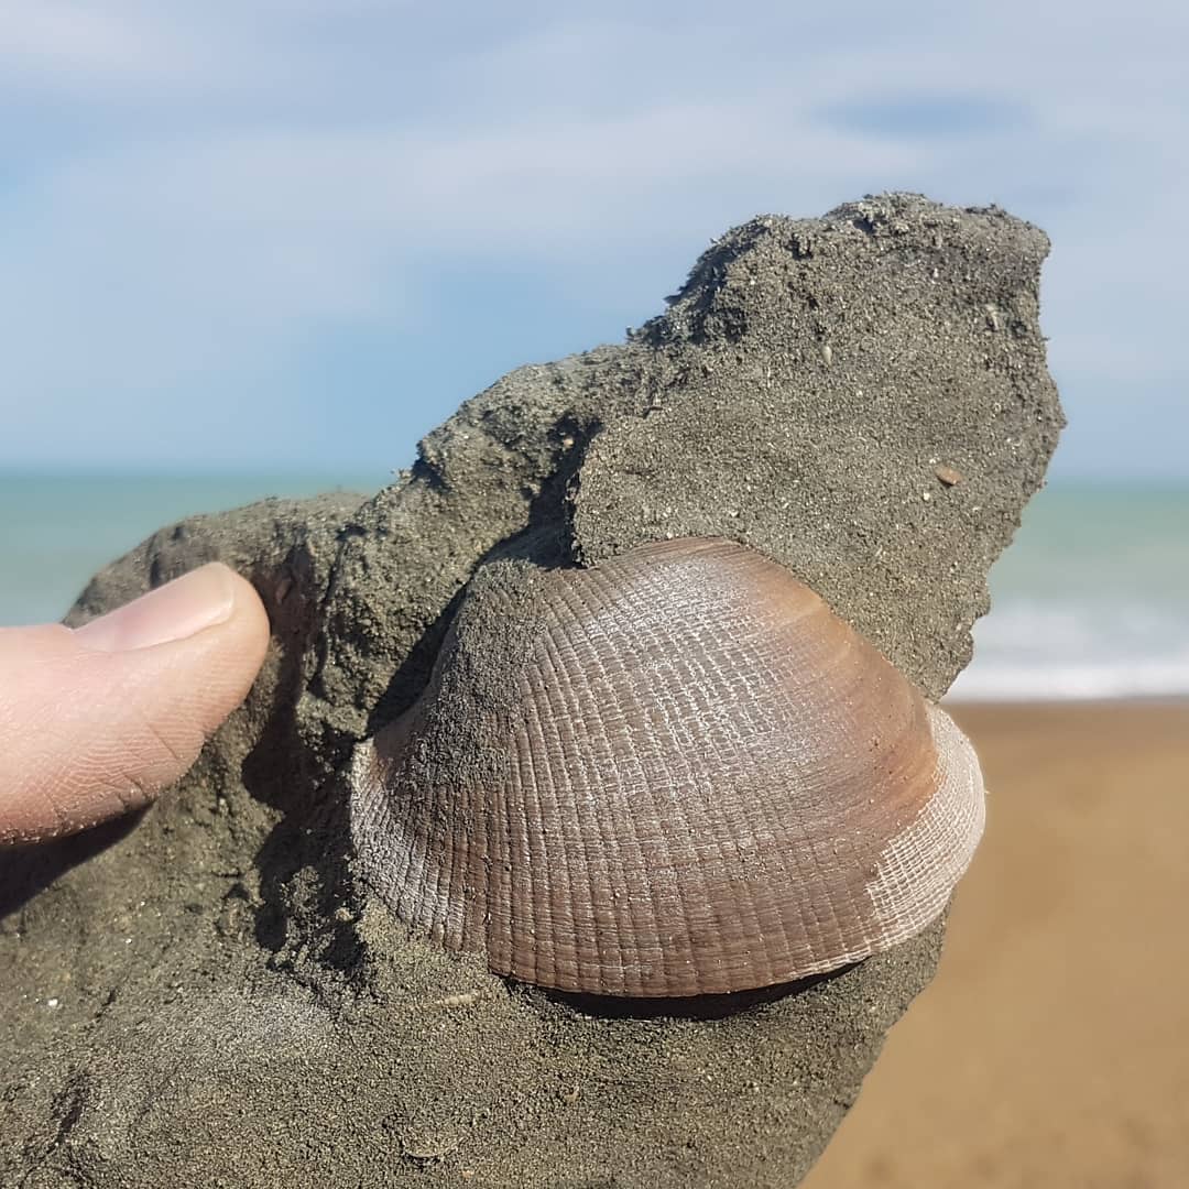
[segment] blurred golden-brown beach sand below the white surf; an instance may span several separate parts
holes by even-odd
[[[951,707],[987,833],[805,1189],[1189,1184],[1189,703]]]

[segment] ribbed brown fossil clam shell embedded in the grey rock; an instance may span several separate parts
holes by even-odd
[[[457,622],[356,754],[357,853],[401,919],[526,982],[682,996],[942,912],[982,831],[974,751],[784,567],[678,540],[497,603],[495,668]]]

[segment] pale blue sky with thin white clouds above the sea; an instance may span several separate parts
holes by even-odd
[[[1189,10],[12,0],[0,467],[401,466],[761,212],[1053,239],[1055,473],[1189,478]]]

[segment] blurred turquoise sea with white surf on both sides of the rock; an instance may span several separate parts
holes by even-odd
[[[88,577],[156,528],[357,474],[0,474],[0,624],[57,619]],[[992,572],[992,611],[950,697],[1071,700],[1189,696],[1189,485],[1055,483]]]

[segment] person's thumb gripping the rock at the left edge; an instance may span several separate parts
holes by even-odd
[[[0,629],[0,844],[139,809],[244,699],[269,619],[214,562],[71,631]]]

